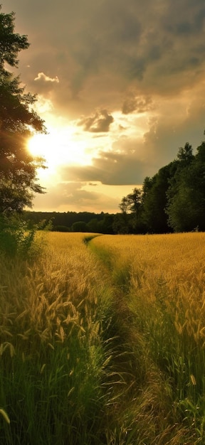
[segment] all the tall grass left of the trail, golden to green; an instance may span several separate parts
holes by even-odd
[[[0,441],[101,443],[109,348],[100,337],[107,292],[81,236],[47,235],[38,261],[1,257]],[[101,433],[102,431],[102,433]]]

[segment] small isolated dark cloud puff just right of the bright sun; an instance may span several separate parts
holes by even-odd
[[[114,122],[112,115],[106,109],[101,109],[90,117],[82,117],[78,125],[82,126],[85,132],[101,133],[109,132],[112,122]]]

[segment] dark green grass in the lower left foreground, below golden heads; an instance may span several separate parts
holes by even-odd
[[[73,333],[55,350],[40,344],[39,349],[41,356],[37,350],[21,356],[22,346],[13,357],[9,350],[1,356],[0,401],[2,406],[6,400],[11,422],[7,425],[3,419],[0,424],[1,443],[100,444],[104,359],[100,346],[80,341]]]

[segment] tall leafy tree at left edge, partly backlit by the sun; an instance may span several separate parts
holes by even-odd
[[[34,158],[27,149],[33,132],[46,133],[32,108],[36,95],[26,93],[19,76],[5,68],[5,63],[17,68],[19,51],[29,46],[27,36],[14,33],[14,19],[14,12],[0,12],[0,213],[32,207],[33,193],[44,193],[36,178],[43,159]]]

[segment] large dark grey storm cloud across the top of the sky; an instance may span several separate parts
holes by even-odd
[[[49,95],[58,112],[115,109],[133,82],[142,95],[178,94],[204,71],[201,0],[6,0],[3,9],[16,11],[19,31],[31,41],[22,53],[31,68],[21,65],[28,88],[37,92],[36,73],[58,76]]]

